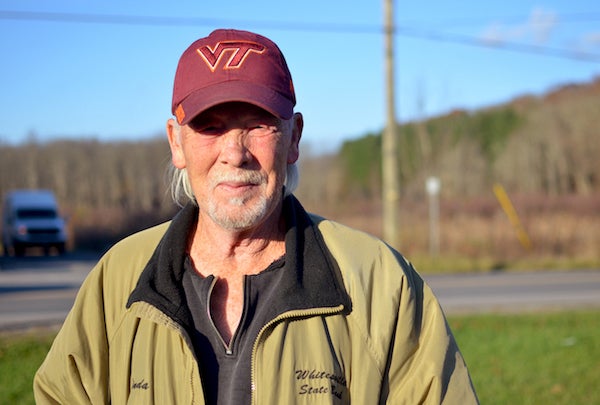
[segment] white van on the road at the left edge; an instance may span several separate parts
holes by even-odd
[[[65,252],[67,232],[54,194],[49,190],[15,190],[4,197],[2,247],[4,254],[23,256],[29,247],[45,254]]]

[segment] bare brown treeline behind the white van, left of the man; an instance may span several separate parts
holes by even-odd
[[[166,138],[140,142],[30,140],[0,145],[0,192],[46,188],[56,194],[73,243],[103,249],[175,211],[166,179]]]

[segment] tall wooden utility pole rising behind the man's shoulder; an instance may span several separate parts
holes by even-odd
[[[383,239],[392,246],[399,243],[400,180],[398,170],[398,128],[394,101],[394,13],[393,0],[384,2],[386,116],[381,140]]]

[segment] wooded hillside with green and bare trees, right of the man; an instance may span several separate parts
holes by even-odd
[[[476,196],[502,183],[513,193],[588,195],[600,191],[600,79],[544,97],[455,111],[399,126],[399,177],[408,195],[438,176],[447,196]],[[348,141],[339,154],[340,192],[381,192],[381,133]]]

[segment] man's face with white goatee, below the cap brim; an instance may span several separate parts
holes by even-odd
[[[246,230],[274,213],[286,167],[298,159],[301,123],[281,121],[247,103],[208,109],[181,127],[168,125],[173,164],[188,172],[200,215]]]

